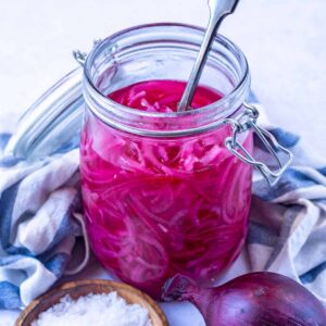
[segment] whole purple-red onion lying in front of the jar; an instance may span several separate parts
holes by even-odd
[[[163,299],[189,300],[208,326],[326,326],[326,311],[308,289],[269,272],[246,274],[213,289],[178,275],[166,283]]]

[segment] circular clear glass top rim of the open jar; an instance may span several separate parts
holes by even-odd
[[[216,105],[222,106],[225,103],[229,102],[230,99],[234,97],[237,97],[238,93],[241,92],[241,90],[248,86],[250,86],[250,73],[249,73],[249,65],[248,61],[246,59],[246,55],[243,52],[240,50],[238,46],[236,46],[231,40],[228,38],[222,36],[222,35],[216,35],[214,37],[214,42],[218,42],[220,45],[224,46],[228,51],[233,51],[235,54],[238,55],[238,63],[241,67],[241,76],[239,77],[239,82],[235,85],[233,90],[228,92],[227,95],[223,96],[221,99],[218,99],[215,102],[210,103],[209,105],[198,108],[198,109],[192,109],[192,110],[187,110],[187,111],[176,111],[176,112],[148,112],[148,111],[141,111],[141,110],[135,110],[133,108],[128,108],[126,105],[123,105],[106,96],[104,96],[95,85],[91,78],[91,66],[97,58],[97,55],[100,53],[100,50],[102,49],[103,45],[106,45],[109,42],[114,42],[114,40],[117,40],[122,38],[124,35],[127,35],[128,33],[133,33],[135,30],[146,30],[149,28],[155,28],[155,27],[162,27],[162,28],[173,28],[173,27],[181,27],[186,28],[189,32],[195,30],[199,32],[202,35],[204,34],[205,29],[199,26],[190,25],[190,24],[180,24],[180,23],[154,23],[154,24],[143,24],[143,25],[137,25],[134,27],[129,27],[123,30],[120,30],[109,37],[106,37],[104,40],[101,40],[99,43],[95,46],[95,48],[89,52],[87,55],[85,65],[84,65],[84,82],[86,83],[86,88],[90,92],[90,96],[92,98],[97,98],[98,101],[102,105],[109,105],[111,109],[118,109],[121,113],[126,113],[126,114],[137,114],[137,116],[145,116],[145,117],[186,117],[189,115],[195,115],[195,114],[202,114],[205,113],[206,111],[211,111],[212,109],[216,108]],[[238,108],[235,108],[234,112],[237,111]],[[234,113],[231,112],[231,113]]]

